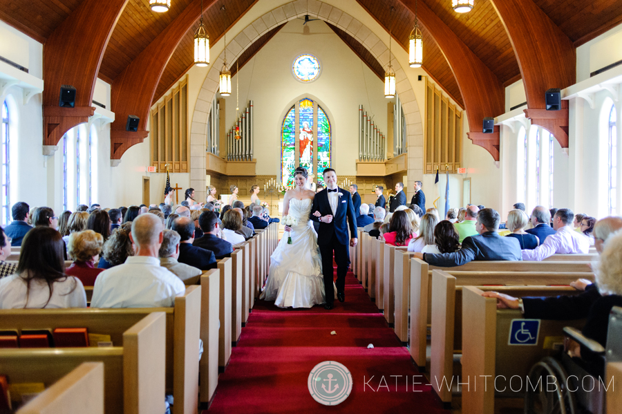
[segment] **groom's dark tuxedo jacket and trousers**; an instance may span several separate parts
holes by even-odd
[[[322,255],[322,273],[324,276],[324,290],[326,292],[326,303],[334,303],[334,289],[332,288],[333,270],[332,255],[337,263],[337,292],[343,293],[346,288],[346,273],[350,266],[350,251],[348,245],[350,238],[357,236],[357,219],[355,216],[354,205],[350,192],[338,188],[337,210],[332,213],[328,200],[328,189],[323,189],[315,195],[309,218],[315,222],[319,218],[314,216],[315,211],[319,211],[322,216],[332,216],[332,222],[319,223],[317,232],[317,244]],[[339,195],[340,194],[340,195]],[[347,223],[346,223],[347,219]],[[348,225],[350,235],[348,235]]]

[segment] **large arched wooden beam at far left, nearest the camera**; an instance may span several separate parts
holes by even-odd
[[[44,47],[44,145],[88,121],[104,50],[128,0],[85,0],[48,37]],[[75,107],[59,107],[60,88],[76,89]]]

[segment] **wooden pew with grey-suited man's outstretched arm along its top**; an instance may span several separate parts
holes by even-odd
[[[510,272],[512,279],[506,280],[513,285],[538,285],[544,278],[551,281],[553,273],[568,273],[569,277],[593,278],[592,268],[588,262],[532,262],[532,261],[472,261],[457,267],[434,267],[418,259],[411,258],[411,332],[409,342],[411,357],[421,369],[426,366],[426,330],[431,319],[431,277],[434,269],[445,270],[453,276],[469,279],[464,285],[485,285],[486,278]],[[565,278],[563,279],[565,280]],[[540,283],[538,283],[540,281]],[[558,284],[553,283],[551,284]],[[565,283],[560,283],[565,284]]]

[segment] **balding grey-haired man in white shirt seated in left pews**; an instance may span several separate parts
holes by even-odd
[[[125,263],[104,270],[95,279],[92,308],[171,307],[185,285],[175,274],[160,266],[162,220],[155,214],[141,214],[132,222],[130,239],[134,256]]]

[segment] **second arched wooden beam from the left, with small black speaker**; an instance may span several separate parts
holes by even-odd
[[[214,3],[216,0],[206,0],[204,12]],[[200,0],[193,0],[113,81],[111,103],[115,122],[110,131],[111,160],[120,160],[129,147],[149,135],[147,117],[158,82],[179,42],[200,18],[199,10]],[[140,117],[136,132],[125,131],[129,115]]]

